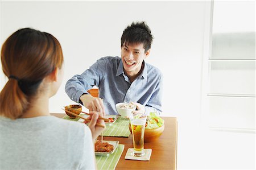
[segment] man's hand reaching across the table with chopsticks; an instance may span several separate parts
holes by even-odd
[[[97,111],[105,116],[103,100],[98,97],[90,96],[90,94],[83,94],[80,97],[82,104],[89,109],[89,111]]]

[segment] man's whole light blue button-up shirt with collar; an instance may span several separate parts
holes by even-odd
[[[106,114],[118,114],[115,104],[138,102],[146,108],[146,114],[162,112],[163,76],[160,70],[144,63],[144,69],[133,82],[123,72],[120,57],[102,57],[81,75],[67,81],[65,92],[79,103],[82,94],[97,86],[99,97],[104,99]]]

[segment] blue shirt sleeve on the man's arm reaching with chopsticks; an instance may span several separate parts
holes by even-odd
[[[89,94],[87,90],[100,84],[105,72],[106,62],[101,58],[82,74],[76,74],[70,78],[65,85],[65,92],[72,101],[79,103],[82,94]]]

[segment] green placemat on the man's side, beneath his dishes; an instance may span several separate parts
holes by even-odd
[[[82,115],[82,114],[80,114]],[[69,121],[78,121],[80,118],[71,119],[68,115],[65,115],[63,119],[67,119]],[[104,136],[117,136],[117,137],[129,137],[130,130],[129,130],[129,119],[122,118],[121,116],[118,117],[117,121],[115,121],[111,125],[107,125],[106,129],[103,132]]]

